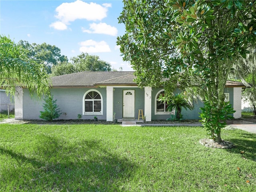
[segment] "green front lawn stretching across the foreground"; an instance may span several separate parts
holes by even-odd
[[[205,133],[186,126],[2,124],[0,191],[255,191],[256,135],[223,130],[236,144],[224,150],[199,144]]]

